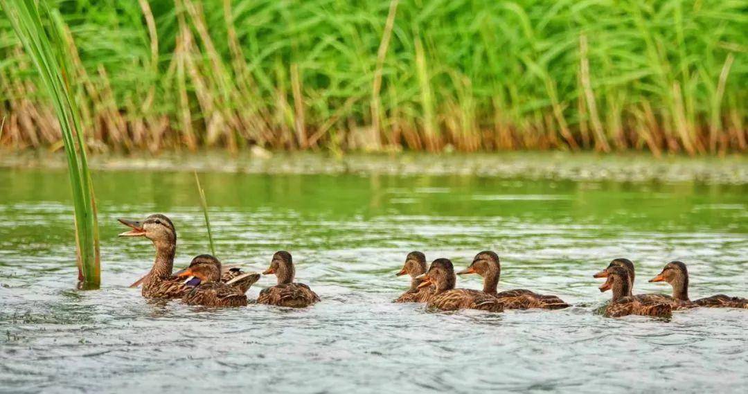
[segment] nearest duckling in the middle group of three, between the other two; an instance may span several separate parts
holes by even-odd
[[[503,312],[504,305],[497,298],[479,290],[455,289],[457,276],[450,259],[435,259],[429,271],[416,279],[421,280],[419,288],[434,286],[434,294],[426,301],[426,307],[438,310],[485,310]]]

